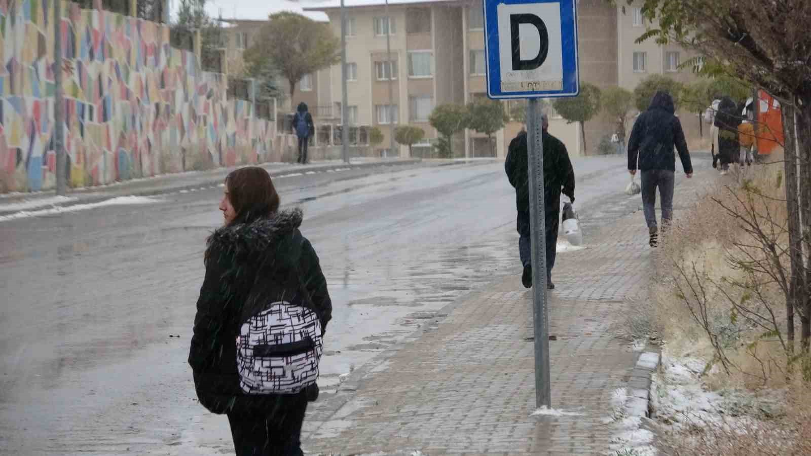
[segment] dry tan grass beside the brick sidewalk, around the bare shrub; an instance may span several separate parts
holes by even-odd
[[[811,455],[809,385],[787,353],[786,299],[774,279],[779,267],[788,270],[788,258],[775,264],[739,217],[751,209],[749,220],[787,247],[781,171],[753,166],[737,183],[708,189],[657,252],[650,327],[661,332],[669,356],[708,361],[703,384],[732,391],[737,401],[720,421],[684,417],[689,425],[664,437],[665,454]],[[779,412],[757,406],[758,396],[774,394],[783,398]]]

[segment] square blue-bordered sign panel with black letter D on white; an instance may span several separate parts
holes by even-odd
[[[575,97],[577,0],[483,0],[487,96]]]

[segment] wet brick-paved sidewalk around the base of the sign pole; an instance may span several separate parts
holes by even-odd
[[[557,338],[549,342],[552,407],[571,415],[531,415],[532,296],[517,273],[457,303],[378,368],[347,381],[332,402],[313,407],[304,449],[606,453],[615,432],[605,424],[611,394],[627,386],[638,357],[612,325],[646,292],[646,233],[642,213],[633,213],[587,233],[585,250],[558,256],[557,290],[549,294],[550,334]]]

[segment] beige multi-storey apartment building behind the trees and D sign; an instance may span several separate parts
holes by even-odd
[[[328,16],[335,36],[341,36],[341,13],[337,2],[305,8]],[[437,132],[428,123],[436,105],[466,104],[486,97],[484,24],[478,0],[363,0],[346,1],[346,71],[348,75],[348,129],[350,145],[364,155],[408,155],[405,146],[391,148],[393,128],[410,124],[423,128],[425,139],[412,148],[416,157],[431,157]],[[228,19],[229,72],[242,69],[241,51],[252,44],[265,21]],[[654,73],[688,82],[694,78],[681,62],[692,58],[677,46],[654,41],[637,44],[646,30],[639,6],[611,6],[604,0],[577,3],[578,53],[581,82],[600,88],[617,86],[633,90]],[[387,36],[390,54],[387,50]],[[284,81],[280,81],[285,84]],[[325,68],[299,81],[295,92],[280,105],[292,110],[304,101],[315,117],[315,147],[341,144],[341,65]],[[509,106],[506,106],[507,108]],[[564,141],[572,155],[583,152],[580,127],[567,123],[551,111],[551,131]],[[380,144],[369,144],[369,131],[383,133]],[[610,136],[613,122],[599,116],[586,123],[589,153]],[[688,136],[697,136],[697,125],[685,125]],[[510,123],[495,135],[495,147],[475,131],[457,135],[454,155],[504,157],[509,141],[521,129]],[[693,133],[695,131],[695,133]]]

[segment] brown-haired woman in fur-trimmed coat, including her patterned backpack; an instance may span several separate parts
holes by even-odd
[[[200,403],[228,415],[242,455],[299,455],[332,303],[318,256],[258,166],[225,178],[208,237],[189,364]]]

